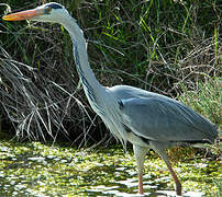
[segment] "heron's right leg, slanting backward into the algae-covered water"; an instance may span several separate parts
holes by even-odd
[[[175,181],[175,184],[176,184],[176,193],[178,196],[181,196],[181,193],[182,193],[182,186],[181,186],[181,183],[179,182],[176,173],[174,172],[173,167],[171,167],[171,164],[169,162],[169,159],[168,159],[168,155],[165,151],[165,149],[159,149],[157,146],[153,146],[155,147],[155,150],[159,153],[159,155],[162,157],[162,159],[164,160],[164,162],[166,163],[174,181]]]

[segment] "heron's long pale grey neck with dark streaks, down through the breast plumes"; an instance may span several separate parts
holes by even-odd
[[[89,67],[82,31],[73,18],[65,21],[63,25],[71,36],[77,71],[91,107],[102,117],[111,132],[113,132],[113,135],[125,144],[125,130],[121,123],[121,115],[118,113],[119,104],[118,102],[114,102],[114,95],[109,94],[109,91],[97,81],[91,68]],[[109,113],[109,117],[107,116],[107,113]],[[115,121],[114,119],[119,119],[119,121]]]

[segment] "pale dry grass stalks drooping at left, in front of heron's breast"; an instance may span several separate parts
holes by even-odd
[[[55,141],[62,132],[69,139],[69,123],[71,136],[86,143],[88,128],[84,125],[93,123],[89,120],[78,90],[69,88],[68,78],[56,83],[38,69],[13,60],[0,49],[4,55],[0,58],[1,112],[4,112],[3,118],[13,124],[16,137],[45,140],[49,136]]]

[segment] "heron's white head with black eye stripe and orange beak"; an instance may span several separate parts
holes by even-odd
[[[12,14],[4,15],[2,19],[5,21],[41,21],[41,22],[55,22],[63,23],[69,16],[68,11],[59,3],[51,2],[37,7],[33,10],[26,10]]]

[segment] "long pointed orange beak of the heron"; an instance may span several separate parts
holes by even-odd
[[[26,10],[22,12],[16,12],[8,15],[3,15],[2,20],[5,21],[23,21],[23,20],[30,20],[37,15],[43,15],[44,9],[33,9],[33,10]]]

